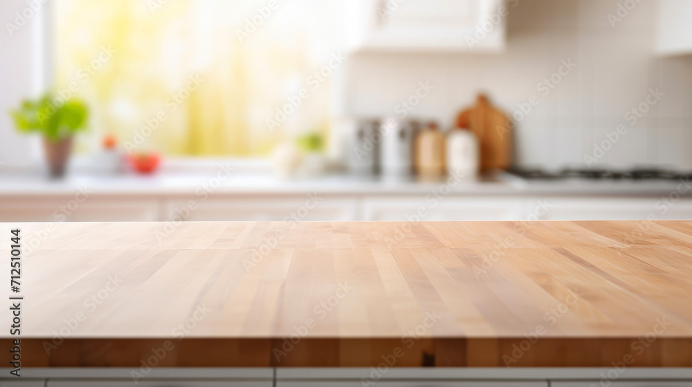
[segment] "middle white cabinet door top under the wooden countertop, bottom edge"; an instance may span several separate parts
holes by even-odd
[[[277,387],[362,387],[367,379],[359,381],[277,381]],[[376,381],[379,387],[548,387],[547,381]]]

